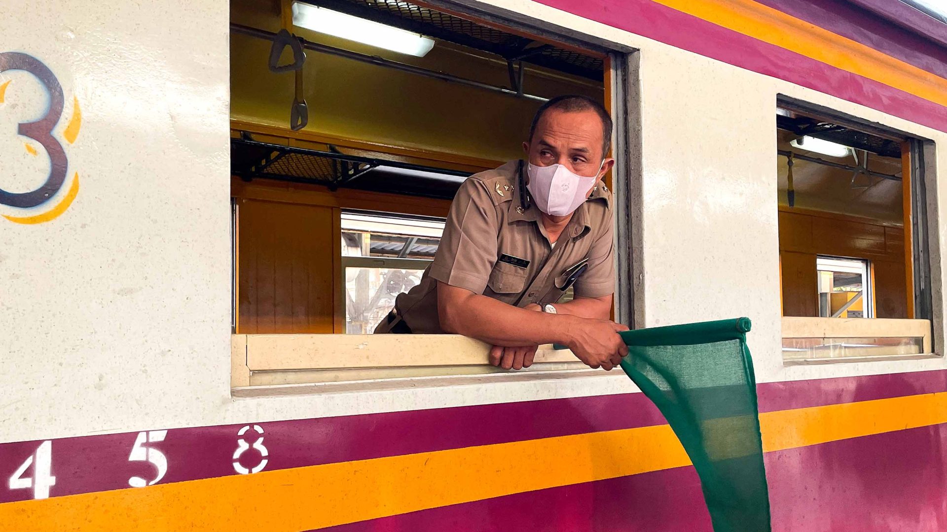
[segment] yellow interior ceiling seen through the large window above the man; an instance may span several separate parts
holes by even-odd
[[[231,21],[275,32],[279,2],[234,0]],[[415,58],[303,28],[293,31],[307,41],[509,87],[506,62],[473,48],[438,41],[426,57]],[[294,74],[269,71],[268,41],[231,33],[230,46],[231,118],[289,132]],[[330,136],[343,147],[368,142],[506,161],[522,156],[529,121],[541,104],[312,50],[306,55],[309,125],[303,132]],[[545,98],[604,98],[601,82],[535,66],[527,66],[524,89]]]

